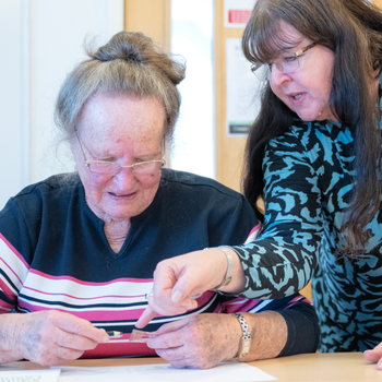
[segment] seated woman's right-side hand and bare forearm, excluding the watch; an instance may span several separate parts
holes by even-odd
[[[251,348],[240,361],[268,359],[279,355],[288,337],[283,315],[275,311],[241,313],[251,335]],[[236,357],[242,330],[237,318],[227,313],[206,313],[163,325],[147,346],[174,367],[212,368]]]

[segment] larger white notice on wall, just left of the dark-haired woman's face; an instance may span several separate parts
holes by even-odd
[[[226,121],[228,136],[246,136],[260,109],[262,83],[251,72],[240,38],[226,39]]]

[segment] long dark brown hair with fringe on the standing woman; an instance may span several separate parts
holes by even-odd
[[[355,136],[357,170],[348,218],[342,227],[346,243],[338,252],[356,256],[369,239],[365,227],[381,203],[381,114],[370,83],[382,62],[382,13],[368,0],[258,0],[242,38],[249,61],[267,63],[278,56],[287,39],[282,21],[335,55],[330,108]],[[243,172],[243,192],[261,222],[264,216],[258,200],[263,196],[264,146],[288,130],[296,117],[266,83],[247,141]]]

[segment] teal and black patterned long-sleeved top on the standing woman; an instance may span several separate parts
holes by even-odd
[[[355,182],[353,146],[350,131],[331,120],[296,120],[271,140],[264,227],[258,240],[234,247],[247,297],[288,296],[312,277],[321,351],[363,351],[382,341],[382,213],[367,227],[373,236],[363,255],[353,262],[335,255]]]

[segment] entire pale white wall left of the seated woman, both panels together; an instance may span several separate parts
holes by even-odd
[[[53,105],[65,74],[85,58],[86,36],[123,29],[123,0],[1,0],[0,208],[21,188],[73,169],[56,155]]]

